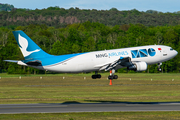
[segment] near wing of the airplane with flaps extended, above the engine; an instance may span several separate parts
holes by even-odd
[[[118,60],[112,62],[112,63],[107,63],[104,65],[98,65],[96,67],[100,67],[99,70],[105,70],[109,71],[111,69],[114,69],[116,66],[121,65],[121,66],[129,66],[131,65],[131,58],[130,57],[125,57],[125,58],[119,58]]]

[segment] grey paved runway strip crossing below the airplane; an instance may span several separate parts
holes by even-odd
[[[179,102],[1,104],[0,114],[117,111],[180,111]]]

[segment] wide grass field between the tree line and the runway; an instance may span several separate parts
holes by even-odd
[[[93,80],[90,74],[43,75],[42,79],[2,75],[0,104],[180,101],[180,74],[119,74],[112,86],[107,76]]]

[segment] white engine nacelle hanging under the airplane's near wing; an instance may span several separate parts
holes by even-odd
[[[133,62],[133,65],[127,67],[128,70],[134,71],[145,71],[147,70],[147,63],[146,62]]]

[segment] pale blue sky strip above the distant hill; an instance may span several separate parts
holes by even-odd
[[[156,10],[159,12],[180,11],[180,0],[1,0],[0,3],[14,5],[15,8],[43,9],[59,6],[69,9],[78,7],[80,9],[139,11]]]

